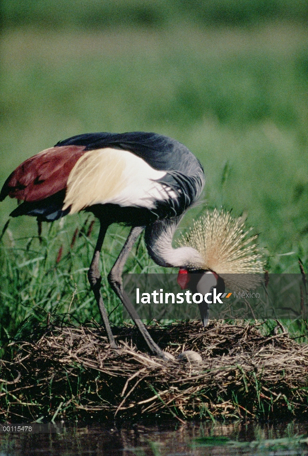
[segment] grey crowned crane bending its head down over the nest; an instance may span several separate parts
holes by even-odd
[[[201,163],[175,139],[144,132],[90,133],[60,141],[25,160],[7,178],[0,200],[9,195],[23,201],[12,217],[32,215],[39,222],[52,222],[85,210],[99,219],[88,279],[111,348],[117,345],[100,291],[100,251],[109,225],[131,226],[108,281],[150,351],[166,359],[167,354],[151,339],[122,287],[128,254],[144,229],[150,257],[161,266],[180,268],[182,288],[194,271],[201,274],[195,287],[202,294],[218,286],[219,280],[223,283],[221,273],[262,271],[261,256],[251,243],[254,238],[246,239],[241,220],[217,210],[200,219],[180,247],[172,247],[181,216],[196,202],[203,185]],[[207,311],[202,306],[200,311],[206,324]]]

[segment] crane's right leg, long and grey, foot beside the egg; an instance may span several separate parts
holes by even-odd
[[[115,261],[114,265],[112,266],[111,271],[109,272],[108,282],[109,282],[111,288],[113,289],[114,293],[121,299],[122,303],[125,305],[127,312],[129,313],[130,317],[132,318],[132,320],[138,327],[139,331],[141,332],[141,334],[142,334],[144,340],[146,341],[146,343],[148,344],[149,349],[152,352],[152,354],[167,360],[170,358],[153,341],[153,339],[149,335],[145,325],[143,324],[139,315],[137,314],[136,309],[134,309],[127,294],[125,293],[125,291],[123,291],[123,284],[122,284],[123,268],[124,268],[127,257],[129,255],[134,243],[137,241],[138,236],[142,233],[143,229],[144,229],[144,227],[142,227],[142,226],[133,227],[131,229],[117,261]]]

